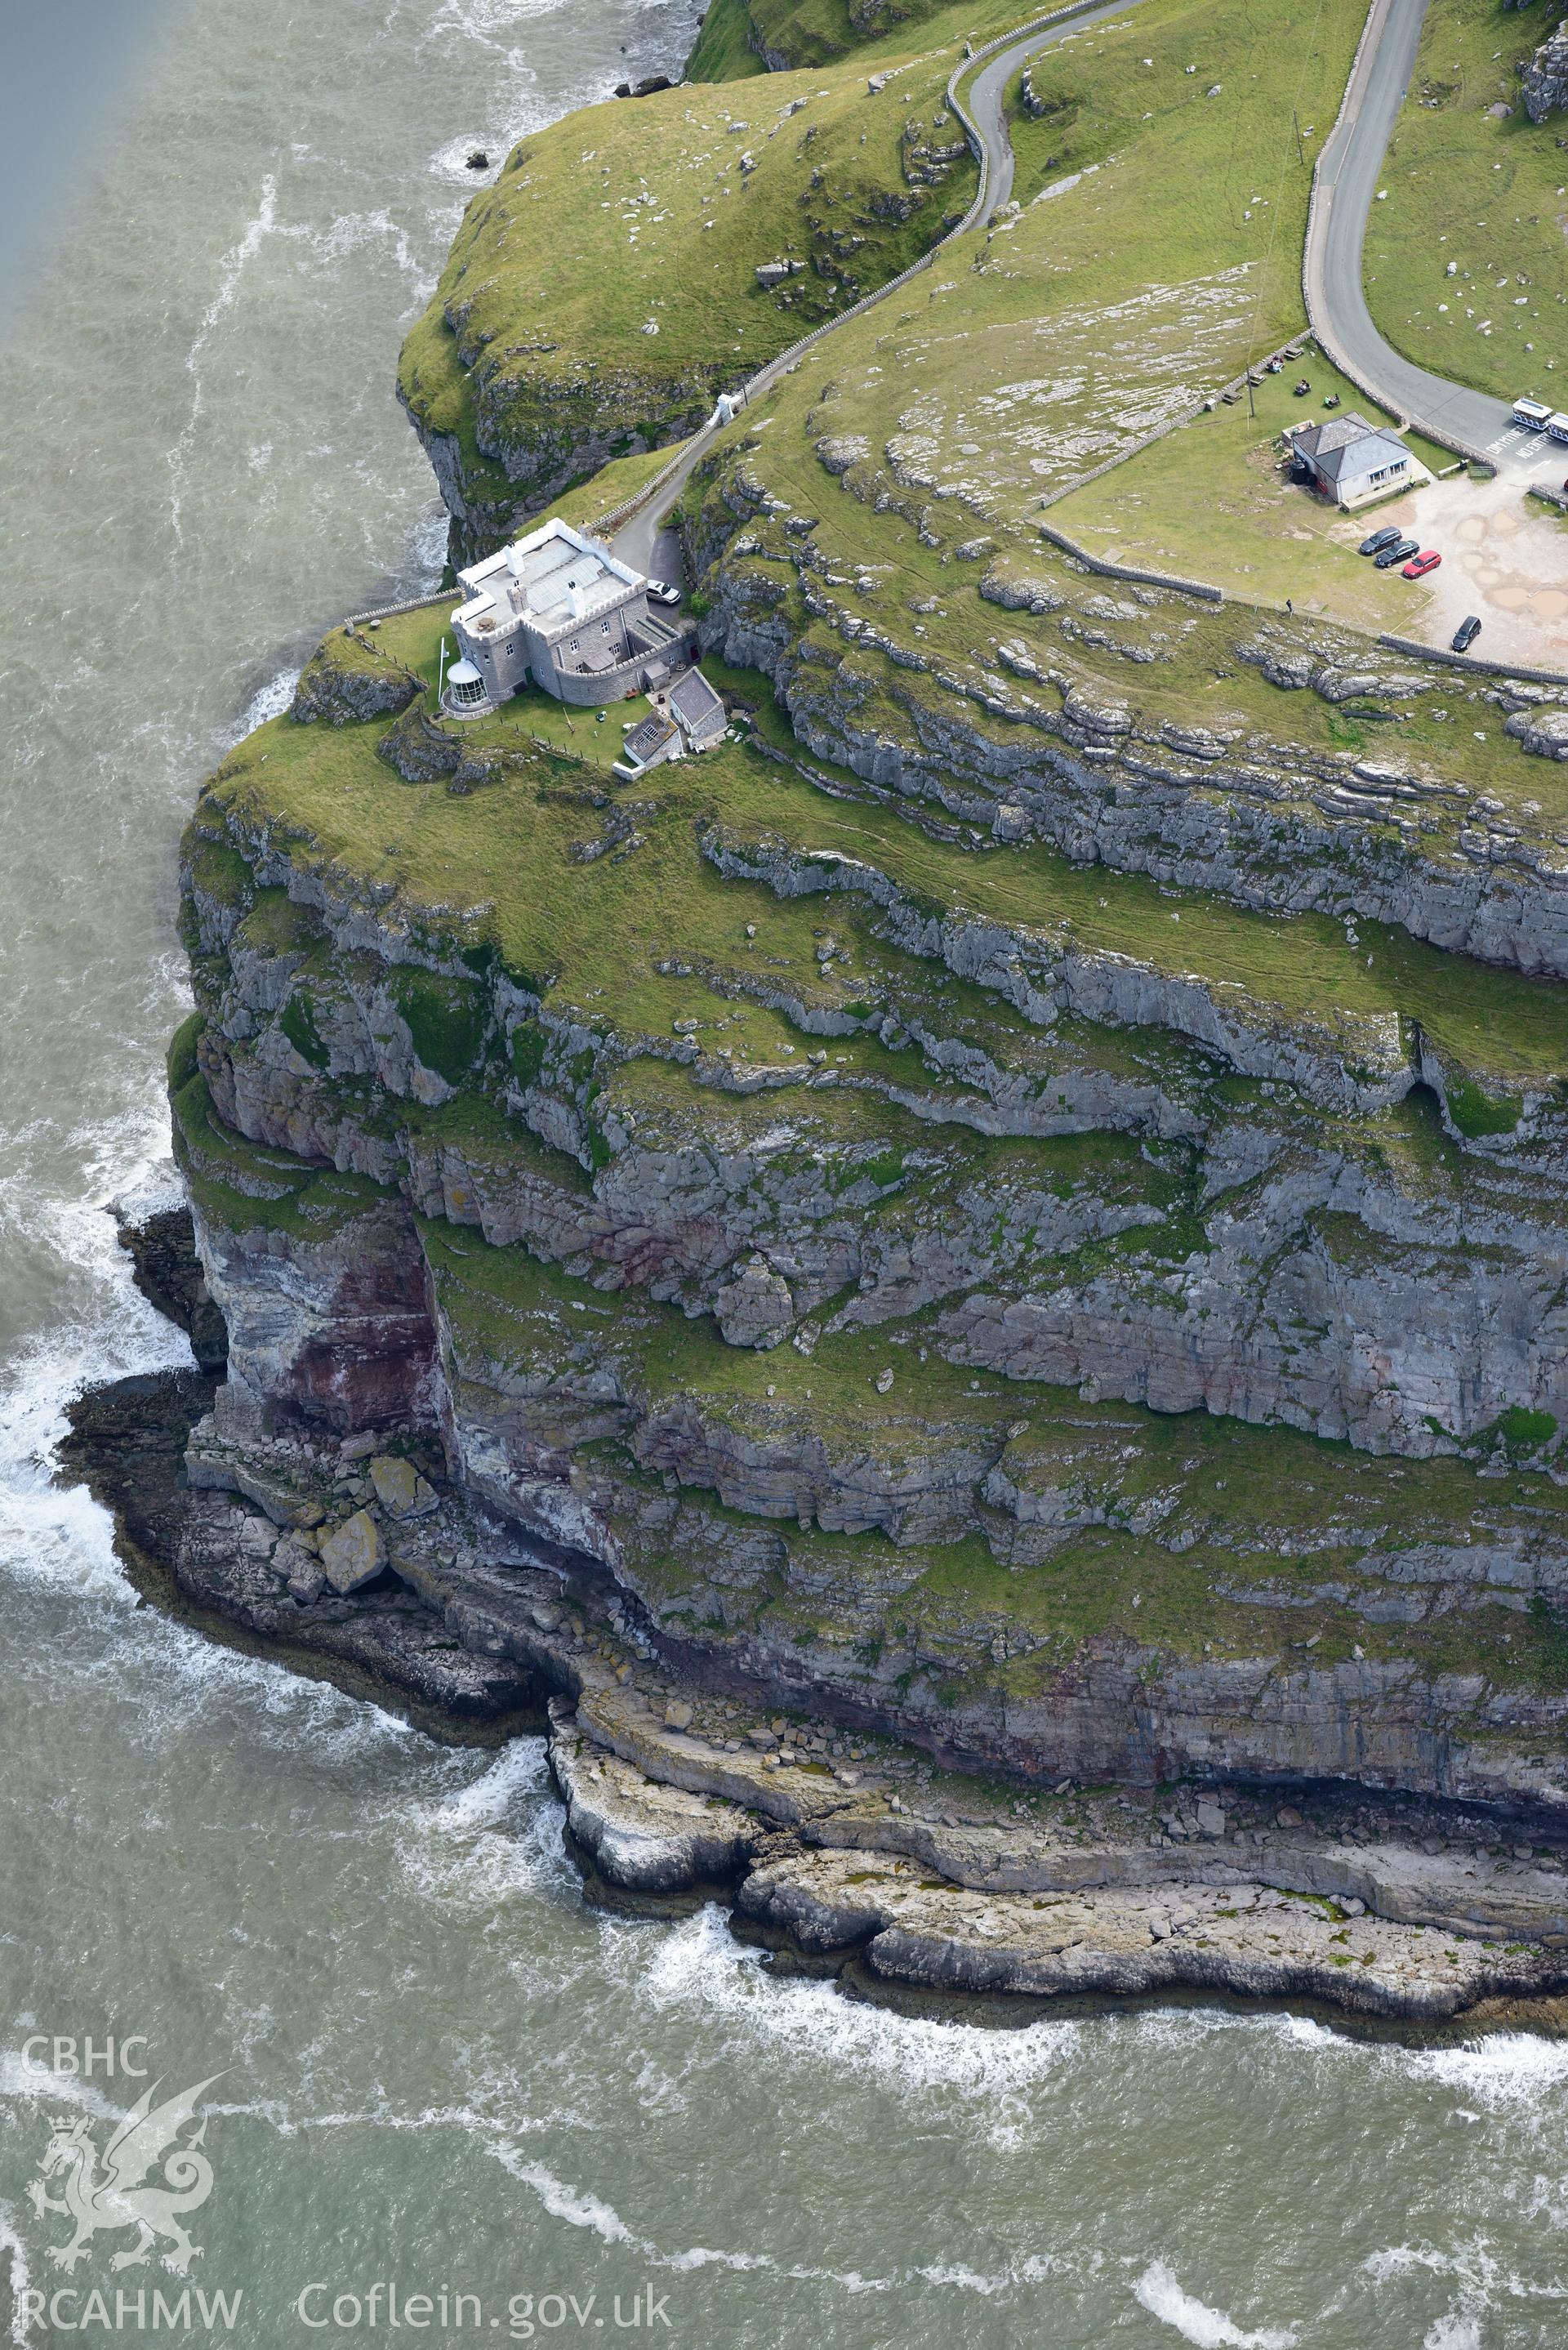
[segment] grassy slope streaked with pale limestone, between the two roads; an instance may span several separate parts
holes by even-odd
[[[1333,120],[1361,24],[1324,0],[1286,42],[1237,0],[1145,0],[1072,33],[1032,73],[1048,110],[1013,115],[1018,214],[811,352],[771,437],[832,383],[837,435],[1032,536],[1041,496],[1302,327],[1312,169],[1281,122]]]

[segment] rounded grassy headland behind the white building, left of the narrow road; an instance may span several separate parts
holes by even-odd
[[[468,209],[400,367],[444,442],[473,545],[569,484],[679,439],[724,385],[898,275],[961,214],[952,59],[896,87],[837,68],[585,108],[527,139]],[[797,263],[776,289],[769,261]],[[451,496],[449,496],[449,503]]]

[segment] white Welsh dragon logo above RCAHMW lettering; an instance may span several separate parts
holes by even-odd
[[[165,2268],[172,2268],[174,2275],[183,2277],[190,2263],[200,2261],[202,2247],[186,2235],[181,2214],[200,2209],[212,2195],[212,2162],[200,2153],[207,2122],[183,2146],[179,2134],[214,2080],[221,2075],[197,2080],[193,2089],[165,2099],[162,2106],[153,2106],[160,2082],[143,2089],[103,2148],[103,2169],[99,2169],[99,2148],[92,2141],[94,2122],[85,2113],[56,2115],[49,2146],[38,2164],[42,2178],[33,2178],[28,2186],[40,2218],[45,2211],[59,2211],[75,2223],[68,2244],[49,2244],[49,2258],[56,2268],[75,2268],[101,2228],[110,2232],[136,2228],[136,2242],[127,2251],[118,2251],[110,2268],[136,2268],[150,2261],[160,2237],[169,2242]],[[148,2178],[160,2160],[162,2181]],[[61,2171],[66,2193],[49,2195],[42,2181],[56,2178]]]

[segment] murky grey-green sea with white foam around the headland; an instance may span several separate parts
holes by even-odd
[[[106,1213],[169,1184],[181,825],[327,623],[437,578],[393,378],[484,176],[468,155],[494,169],[616,80],[677,70],[696,12],[59,0],[28,40],[21,14],[7,169],[33,200],[0,228],[0,2334],[1568,2341],[1566,2042],[875,2005],[769,1965],[719,1908],[595,1908],[536,1739],[437,1746],[136,1600],[54,1445],[85,1382],[186,1361]],[[78,2223],[68,2195],[134,2174],[141,2120],[181,2099],[207,2113],[183,2268],[113,2197]]]

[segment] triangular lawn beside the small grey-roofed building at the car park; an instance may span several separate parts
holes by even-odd
[[[1300,376],[1312,383],[1309,400],[1293,397],[1291,385]],[[1281,432],[1321,418],[1328,392],[1340,395],[1345,411],[1396,428],[1316,350],[1307,350],[1300,364],[1286,362],[1281,376],[1262,378],[1253,392],[1255,414],[1241,397],[1237,407],[1199,416],[1063,498],[1051,508],[1051,522],[1112,562],[1180,571],[1262,604],[1284,606],[1291,597],[1298,611],[1331,613],[1368,630],[1420,632],[1429,590],[1375,571],[1356,555],[1368,531],[1401,519],[1408,501],[1342,515],[1298,489],[1281,465]],[[1450,463],[1446,449],[1420,435],[1406,435],[1406,446],[1434,472]]]

